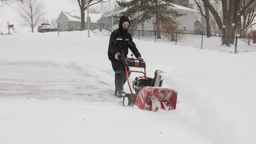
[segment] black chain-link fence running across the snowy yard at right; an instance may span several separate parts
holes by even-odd
[[[193,46],[199,49],[211,49],[223,52],[250,52],[256,51],[256,44],[253,43],[254,36],[235,36],[226,37],[234,41],[230,46],[222,46],[222,38],[224,36],[198,34],[197,31],[191,33],[166,32],[166,31],[130,31],[133,38],[143,41],[155,41],[171,43],[181,46]],[[159,39],[157,35],[160,34]]]

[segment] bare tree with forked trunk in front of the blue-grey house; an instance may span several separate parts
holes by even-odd
[[[109,2],[108,1],[105,1],[105,0],[88,0],[88,3],[87,3],[87,0],[74,0],[74,1],[77,1],[79,7],[80,7],[80,12],[81,12],[81,28],[80,28],[80,31],[83,31],[85,29],[85,10],[87,10],[87,5],[88,7],[92,6],[92,5],[95,5],[97,3],[104,3],[104,2]]]

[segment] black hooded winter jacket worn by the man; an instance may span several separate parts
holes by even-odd
[[[119,21],[119,28],[113,31],[110,35],[108,45],[108,59],[110,61],[118,61],[117,59],[115,59],[115,54],[117,52],[120,52],[120,54],[122,54],[122,49],[125,57],[127,57],[128,48],[130,48],[131,52],[135,55],[135,57],[141,57],[135,43],[133,42],[131,34],[128,32],[127,29],[124,30],[122,27],[122,23],[124,21],[128,21],[130,26],[130,20],[128,19],[128,17],[121,16]]]

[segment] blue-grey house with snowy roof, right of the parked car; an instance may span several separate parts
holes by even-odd
[[[56,19],[57,27],[61,31],[76,31],[80,30],[81,27],[81,17],[80,12],[70,12],[70,11],[61,11],[58,18]],[[100,14],[89,13],[91,17],[91,22],[89,23],[89,29],[97,29],[99,23],[97,20],[100,18]],[[86,18],[87,15],[85,15]],[[85,29],[88,29],[88,23],[85,21]]]

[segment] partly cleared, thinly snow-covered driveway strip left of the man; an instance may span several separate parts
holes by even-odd
[[[107,83],[91,76],[75,63],[0,61],[1,99],[106,101],[113,99],[110,96],[112,91]]]

